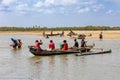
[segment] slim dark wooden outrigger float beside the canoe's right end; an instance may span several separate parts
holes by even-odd
[[[99,51],[99,52],[87,52],[87,53],[78,53],[76,56],[85,56],[85,55],[96,55],[96,54],[107,54],[111,53],[112,50],[107,50],[107,51]]]

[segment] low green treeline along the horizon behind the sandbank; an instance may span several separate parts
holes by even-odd
[[[63,30],[120,30],[120,27],[109,27],[109,26],[85,26],[85,27],[0,27],[0,31],[63,31]]]

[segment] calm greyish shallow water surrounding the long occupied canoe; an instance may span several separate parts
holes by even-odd
[[[13,50],[10,38],[21,39],[22,49]],[[118,80],[120,79],[120,39],[88,39],[96,48],[111,49],[110,54],[75,56],[34,56],[28,45],[42,39],[43,49],[52,39],[56,48],[67,39],[69,46],[73,39],[53,37],[45,39],[35,35],[0,35],[0,80]],[[80,40],[78,40],[80,42]]]

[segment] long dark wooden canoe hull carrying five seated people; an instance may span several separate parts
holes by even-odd
[[[32,47],[28,47],[29,51],[35,55],[35,56],[49,56],[49,55],[62,55],[62,54],[74,54],[74,53],[80,53],[80,52],[88,52],[91,50],[91,48],[80,48],[80,49],[69,49],[67,51],[63,51],[63,50],[43,50],[43,51],[36,51],[34,48]]]

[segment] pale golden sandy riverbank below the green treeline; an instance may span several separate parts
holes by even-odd
[[[51,31],[46,31],[46,34],[50,34]],[[53,31],[54,33],[59,33],[61,31]],[[70,31],[64,31],[64,37],[67,37],[67,34]],[[86,38],[93,38],[93,39],[97,39],[99,38],[99,34],[100,32],[103,32],[103,38],[104,39],[120,39],[120,30],[108,30],[108,31],[73,31],[77,34],[92,34],[92,36],[90,37],[86,37]],[[0,31],[0,35],[2,34],[29,34],[29,35],[39,35],[39,36],[43,36],[43,31]]]

